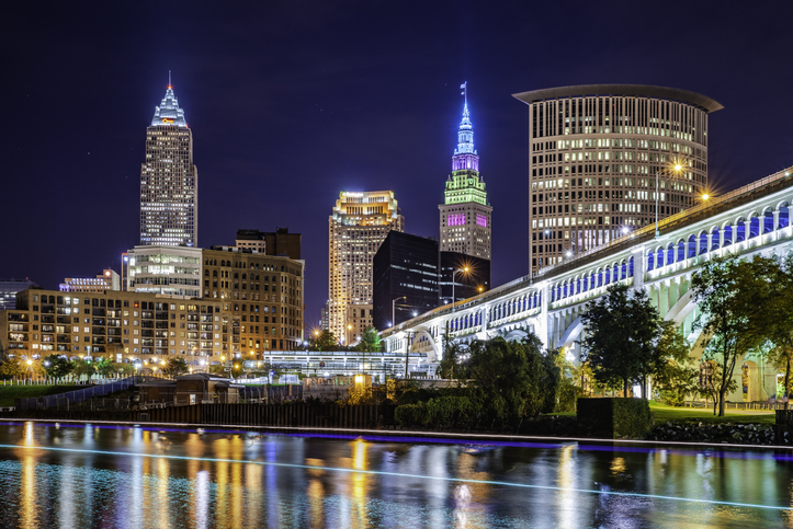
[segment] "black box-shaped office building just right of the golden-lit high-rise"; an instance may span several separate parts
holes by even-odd
[[[392,231],[377,250],[372,269],[376,329],[388,329],[438,307],[438,241],[434,239]],[[396,321],[392,321],[393,318]]]

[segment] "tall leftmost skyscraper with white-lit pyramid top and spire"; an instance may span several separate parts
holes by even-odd
[[[193,164],[193,133],[169,81],[146,129],[140,244],[197,246],[197,241],[199,172]]]

